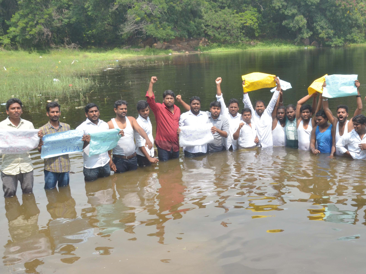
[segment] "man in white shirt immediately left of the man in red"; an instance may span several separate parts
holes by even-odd
[[[139,100],[137,102],[137,111],[138,117],[136,119],[137,123],[141,126],[141,128],[146,132],[147,137],[149,140],[154,144],[154,137],[153,137],[153,126],[151,125],[149,114],[150,108],[149,104],[145,100]],[[155,150],[146,149],[145,148],[145,139],[141,137],[140,134],[134,132],[135,134],[135,150],[137,153],[137,164],[139,167],[145,167],[151,165],[152,163],[155,164],[159,160],[155,158]]]

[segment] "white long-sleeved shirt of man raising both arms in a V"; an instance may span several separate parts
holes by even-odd
[[[249,95],[244,94],[243,103],[245,107],[249,107],[252,111],[252,120],[254,121],[255,128],[257,129],[257,136],[262,148],[273,146],[272,140],[272,111],[275,108],[277,98],[280,91],[276,90],[273,93],[272,99],[269,101],[268,106],[264,110],[262,116],[259,117],[258,113],[253,109],[250,102]]]

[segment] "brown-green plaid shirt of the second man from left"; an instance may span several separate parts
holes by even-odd
[[[60,124],[59,129],[55,129],[51,125],[51,123],[48,122],[44,126],[42,126],[40,130],[42,130],[43,135],[70,130],[70,126],[68,124],[61,122],[59,122],[59,124]],[[70,159],[68,157],[68,154],[45,159],[45,170],[51,172],[70,171]]]

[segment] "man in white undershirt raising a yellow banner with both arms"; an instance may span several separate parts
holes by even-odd
[[[315,116],[311,119],[313,113],[317,113],[321,109],[322,95],[319,96],[318,106],[316,106],[317,92],[306,95],[297,102],[296,105],[296,127],[298,134],[298,145],[300,150],[308,151],[310,149],[310,136],[316,122]],[[313,105],[304,104],[307,100],[313,98]],[[310,122],[311,120],[311,122]]]

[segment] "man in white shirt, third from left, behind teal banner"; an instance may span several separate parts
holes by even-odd
[[[90,133],[109,129],[108,124],[99,119],[99,115],[99,108],[96,104],[89,103],[85,106],[86,121],[76,128],[84,131],[84,136],[82,138],[84,141],[83,149],[89,145]],[[111,175],[109,161],[112,160],[109,158],[108,152],[91,156],[88,156],[83,152],[83,159],[83,174],[86,181],[95,181],[99,177],[107,177]]]

